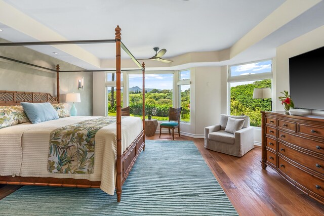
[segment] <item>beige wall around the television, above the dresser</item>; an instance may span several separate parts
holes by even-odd
[[[274,73],[274,110],[284,110],[277,99],[280,92],[289,90],[289,58],[324,46],[324,25],[297,37],[276,49]],[[307,74],[305,74],[307,75]]]

